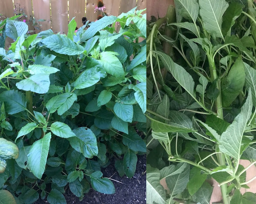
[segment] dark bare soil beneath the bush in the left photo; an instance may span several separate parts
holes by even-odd
[[[115,194],[102,194],[95,190],[90,190],[84,196],[84,200],[79,201],[79,198],[72,193],[64,194],[67,204],[146,204],[146,155],[138,155],[138,163],[134,177],[120,177],[111,163],[107,168],[102,168],[103,177],[111,177],[122,183],[112,180],[116,188]],[[46,204],[45,200],[38,200],[35,204]]]

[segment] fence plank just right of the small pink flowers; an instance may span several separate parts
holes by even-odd
[[[35,20],[44,19],[44,22],[38,22],[42,26],[35,26],[36,33],[51,29],[50,0],[32,0]]]

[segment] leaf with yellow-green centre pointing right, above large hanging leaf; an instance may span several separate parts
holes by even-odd
[[[62,122],[54,122],[50,127],[52,133],[62,138],[76,137],[67,124]]]

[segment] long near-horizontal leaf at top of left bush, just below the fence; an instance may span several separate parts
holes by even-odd
[[[77,45],[66,35],[50,35],[42,39],[41,43],[59,54],[79,55],[84,52],[84,47]]]

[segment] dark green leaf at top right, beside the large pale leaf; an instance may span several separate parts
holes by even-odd
[[[231,27],[234,26],[235,20],[241,15],[244,6],[237,2],[231,2],[223,15],[222,33],[230,35]]]

